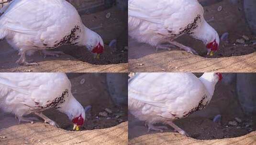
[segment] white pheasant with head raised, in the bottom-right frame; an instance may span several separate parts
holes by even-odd
[[[188,134],[172,121],[203,109],[211,101],[221,73],[204,73],[197,78],[192,73],[138,73],[129,80],[129,112],[145,121],[148,131],[163,132],[172,126],[182,135]]]

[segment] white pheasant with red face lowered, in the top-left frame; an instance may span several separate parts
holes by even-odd
[[[12,0],[0,13],[0,40],[5,38],[19,51],[17,63],[38,65],[27,62],[25,55],[43,50],[45,56],[58,56],[63,52],[47,50],[62,45],[86,46],[97,57],[103,52],[100,35],[82,23],[66,0]]]

